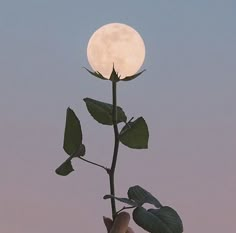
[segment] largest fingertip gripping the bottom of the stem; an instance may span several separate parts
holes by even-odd
[[[127,212],[121,212],[115,218],[110,233],[126,233],[128,230],[130,215]]]

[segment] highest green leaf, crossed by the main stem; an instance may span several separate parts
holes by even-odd
[[[104,103],[91,98],[85,98],[87,109],[92,117],[104,125],[113,125],[112,104]],[[117,107],[117,123],[126,122],[127,117],[121,107]]]

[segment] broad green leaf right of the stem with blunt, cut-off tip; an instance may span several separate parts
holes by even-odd
[[[139,117],[134,122],[127,123],[121,130],[119,138],[124,145],[130,148],[147,149],[149,132],[143,117]]]

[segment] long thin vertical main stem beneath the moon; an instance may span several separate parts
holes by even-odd
[[[116,81],[112,81],[112,121],[113,121],[113,128],[114,128],[114,136],[115,136],[115,142],[114,142],[114,151],[113,151],[113,159],[111,164],[111,169],[109,171],[109,179],[110,179],[110,194],[115,196],[115,181],[114,181],[114,175],[115,175],[115,168],[116,168],[116,161],[117,161],[117,155],[118,155],[118,149],[119,149],[119,131],[117,126],[117,99],[116,99]],[[112,218],[115,219],[116,216],[116,203],[115,199],[111,198],[111,209],[112,209]]]

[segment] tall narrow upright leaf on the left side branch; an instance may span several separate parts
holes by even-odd
[[[64,133],[63,148],[68,155],[73,155],[78,151],[82,143],[82,131],[80,121],[70,108],[66,113],[66,126]]]

